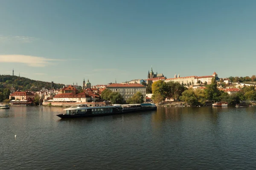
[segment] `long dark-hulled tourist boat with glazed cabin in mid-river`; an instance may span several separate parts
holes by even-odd
[[[104,116],[119,113],[129,113],[135,111],[152,111],[156,110],[157,106],[152,103],[142,104],[130,104],[130,105],[110,105],[110,106],[98,106],[88,107],[87,105],[76,105],[71,108],[64,109],[66,113],[58,114],[60,118],[81,118],[81,117],[93,117]]]

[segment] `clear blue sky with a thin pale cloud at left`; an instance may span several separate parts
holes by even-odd
[[[0,0],[0,74],[92,85],[255,75],[256,0]]]

